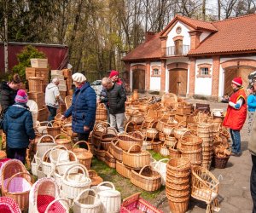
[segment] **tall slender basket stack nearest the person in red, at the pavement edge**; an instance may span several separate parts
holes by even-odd
[[[202,167],[209,170],[212,163],[212,127],[210,123],[199,123],[197,126],[197,135],[202,139]]]

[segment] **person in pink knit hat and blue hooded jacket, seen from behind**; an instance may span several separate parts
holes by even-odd
[[[26,148],[35,139],[32,112],[26,106],[27,95],[23,89],[18,90],[15,104],[4,114],[3,131],[6,134],[7,158],[19,159],[25,164]]]

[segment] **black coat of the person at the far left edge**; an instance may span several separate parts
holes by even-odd
[[[0,84],[0,104],[2,107],[2,114],[7,111],[8,107],[15,104],[15,96],[17,95],[17,90],[11,89],[7,82],[2,82]]]

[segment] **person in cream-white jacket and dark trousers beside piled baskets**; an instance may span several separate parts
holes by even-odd
[[[57,109],[60,107],[60,102],[64,103],[58,88],[59,84],[59,78],[53,78],[45,89],[45,104],[49,110],[49,121],[55,119]]]

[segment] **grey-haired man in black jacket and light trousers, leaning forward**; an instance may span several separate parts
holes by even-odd
[[[125,118],[125,89],[117,83],[113,83],[110,78],[102,79],[102,86],[107,89],[107,98],[100,102],[108,102],[110,126],[117,128],[119,133],[124,132]]]

